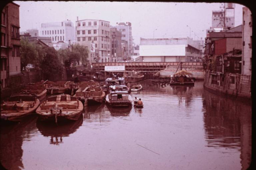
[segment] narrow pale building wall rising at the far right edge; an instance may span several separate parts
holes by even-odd
[[[242,74],[251,75],[252,71],[252,13],[243,7],[242,24]]]

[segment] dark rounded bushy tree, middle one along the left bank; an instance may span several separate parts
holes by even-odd
[[[44,48],[46,55],[42,61],[42,72],[44,80],[57,81],[61,79],[62,64],[58,58],[58,53],[53,47]]]

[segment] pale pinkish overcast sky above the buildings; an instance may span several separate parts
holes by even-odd
[[[116,22],[131,22],[135,44],[142,38],[205,38],[211,27],[212,10],[220,3],[175,2],[92,2],[92,1],[14,1],[20,5],[20,31],[40,28],[41,23],[77,17]],[[242,5],[235,4],[235,26],[242,24]],[[190,27],[187,27],[187,25]],[[156,30],[157,29],[157,30]],[[154,31],[155,30],[155,31]]]

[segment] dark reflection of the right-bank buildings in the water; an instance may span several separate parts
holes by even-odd
[[[204,91],[203,109],[207,146],[237,149],[242,169],[247,169],[251,162],[251,102]]]

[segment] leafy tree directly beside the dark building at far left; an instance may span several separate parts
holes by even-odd
[[[29,42],[26,38],[21,38],[20,44],[21,69],[26,67],[28,64],[34,65],[35,60],[38,58],[36,45]]]

